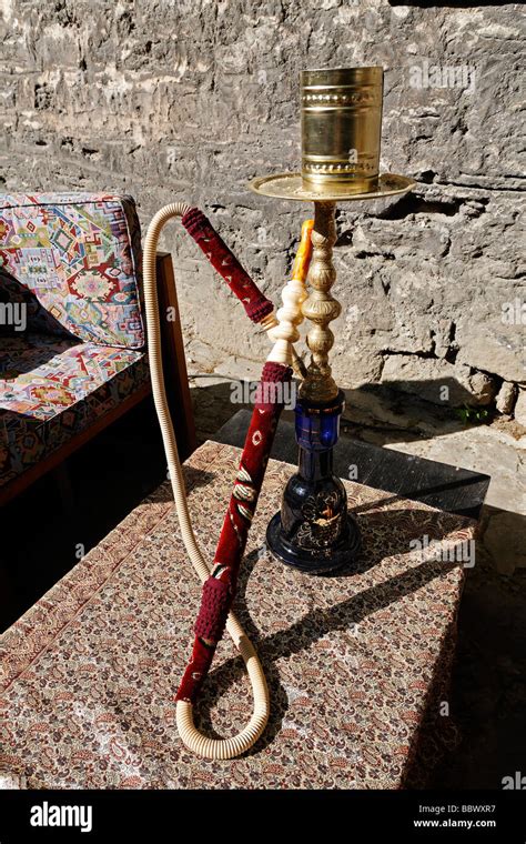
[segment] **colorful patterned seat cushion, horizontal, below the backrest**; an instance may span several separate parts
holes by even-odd
[[[31,334],[0,342],[0,486],[149,379],[144,352]]]

